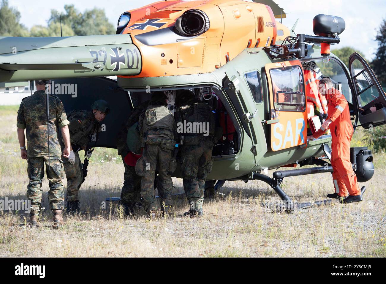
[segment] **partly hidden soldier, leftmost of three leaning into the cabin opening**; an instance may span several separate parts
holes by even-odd
[[[130,127],[138,122],[139,116],[146,110],[148,104],[149,101],[146,101],[135,107],[117,135],[118,155],[122,156],[122,162],[125,166],[124,183],[121,191],[120,202],[122,206],[124,206],[126,215],[133,214],[135,208],[139,210],[142,206],[141,177],[135,173],[135,167],[127,165],[124,160],[124,158],[130,153],[130,149],[127,146],[127,132]]]

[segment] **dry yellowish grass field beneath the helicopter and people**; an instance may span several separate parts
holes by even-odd
[[[25,199],[27,162],[20,158],[16,106],[0,106],[0,199]],[[359,146],[364,132],[356,133]],[[364,201],[272,213],[260,204],[276,194],[266,184],[226,182],[214,200],[204,202],[200,219],[181,218],[185,196],[176,197],[175,217],[150,221],[125,218],[106,197],[119,197],[124,167],[117,151],[97,149],[80,190],[87,216],[65,216],[51,228],[45,210],[39,228],[25,226],[28,215],[0,211],[0,257],[386,257],[386,155],[374,155],[374,177]],[[271,174],[271,171],[269,172]],[[173,179],[175,193],[182,180]],[[65,182],[65,181],[64,181]],[[48,183],[44,179],[43,207]],[[297,201],[324,199],[333,192],[331,175],[286,178],[283,189]]]

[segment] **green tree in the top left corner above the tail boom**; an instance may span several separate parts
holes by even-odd
[[[7,0],[0,3],[0,36],[29,36],[28,29],[19,24],[20,12],[8,6]]]

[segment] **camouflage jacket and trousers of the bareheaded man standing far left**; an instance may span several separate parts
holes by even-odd
[[[61,100],[49,96],[49,131],[47,133],[46,93],[36,91],[20,103],[17,111],[17,127],[26,129],[28,177],[27,198],[31,201],[32,211],[38,212],[42,200],[42,179],[46,164],[49,180],[49,206],[51,210],[62,210],[64,207],[64,178],[61,148],[58,139],[58,127],[69,124]],[[49,153],[47,136],[49,136]]]

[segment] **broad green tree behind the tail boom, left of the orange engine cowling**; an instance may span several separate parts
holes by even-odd
[[[71,27],[76,36],[88,36],[97,34],[115,34],[115,27],[108,22],[105,11],[94,8],[86,10],[83,14],[75,9],[74,5],[65,5],[65,13],[62,14],[62,26]],[[59,12],[51,10],[48,26],[60,22]],[[68,36],[63,33],[63,36]]]

